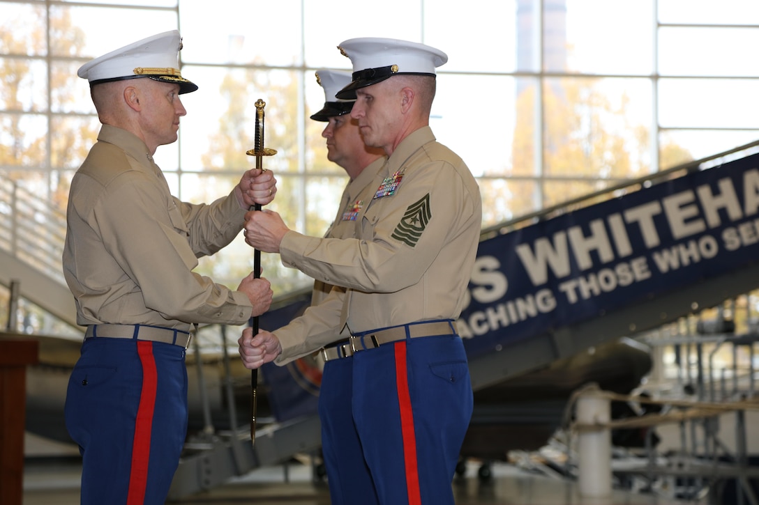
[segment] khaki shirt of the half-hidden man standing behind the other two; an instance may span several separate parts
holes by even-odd
[[[361,171],[361,174],[358,174],[358,177],[348,183],[342,193],[335,221],[332,221],[332,225],[324,235],[326,238],[341,239],[358,236],[361,220],[357,217],[361,214],[361,209],[371,202],[376,191],[374,181],[383,169],[385,161],[386,158],[383,157],[370,163]],[[281,342],[298,342],[301,346],[307,338],[314,335],[320,335],[319,340],[326,340],[325,343],[342,338],[339,337],[340,331],[335,328],[335,325],[340,318],[344,296],[345,288],[335,287],[323,281],[314,281],[311,305],[304,314],[273,333]]]

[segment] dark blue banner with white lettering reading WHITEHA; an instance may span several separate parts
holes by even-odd
[[[468,356],[756,261],[757,166],[751,155],[480,242],[458,321]]]

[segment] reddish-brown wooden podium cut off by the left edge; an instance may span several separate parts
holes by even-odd
[[[0,333],[0,503],[21,505],[24,498],[24,421],[27,365],[38,362],[33,337]]]

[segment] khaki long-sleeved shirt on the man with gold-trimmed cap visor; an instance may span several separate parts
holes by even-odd
[[[63,269],[77,324],[244,324],[247,296],[192,271],[237,236],[244,215],[234,192],[209,205],[176,199],[145,143],[103,125],[68,199]]]

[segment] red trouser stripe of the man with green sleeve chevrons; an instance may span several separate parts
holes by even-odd
[[[408,505],[421,505],[419,469],[417,467],[417,438],[414,433],[414,412],[411,410],[411,394],[408,392],[406,343],[400,341],[394,345],[395,384],[398,387],[398,405],[401,408],[401,433],[403,436],[403,460],[406,465]]]

